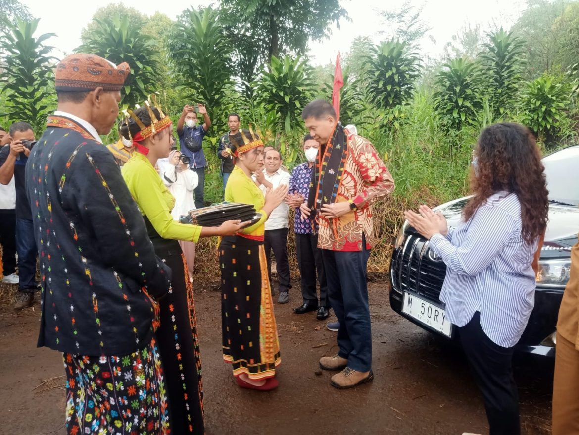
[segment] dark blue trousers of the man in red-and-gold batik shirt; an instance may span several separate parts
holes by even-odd
[[[368,306],[366,269],[370,251],[343,252],[321,249],[329,302],[338,317],[339,356],[348,367],[367,372],[372,368],[372,330]]]

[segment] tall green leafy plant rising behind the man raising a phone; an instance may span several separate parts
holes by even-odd
[[[190,102],[207,104],[214,121],[214,131],[225,126],[222,102],[225,90],[232,84],[232,48],[218,13],[206,8],[202,12],[186,10],[168,37],[169,56],[173,70]]]

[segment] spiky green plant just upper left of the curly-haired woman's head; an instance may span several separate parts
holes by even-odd
[[[482,109],[481,71],[466,59],[453,59],[437,74],[435,110],[441,115],[446,129],[460,131],[475,125]]]

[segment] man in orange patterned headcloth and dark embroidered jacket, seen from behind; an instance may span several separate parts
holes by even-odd
[[[153,332],[170,291],[107,135],[129,66],[76,54],[56,68],[58,110],[30,154],[40,257],[38,346],[64,353],[69,434],[160,434],[168,409]]]

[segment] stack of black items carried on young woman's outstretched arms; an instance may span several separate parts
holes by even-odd
[[[261,219],[261,213],[251,204],[221,202],[189,211],[190,222],[201,227],[218,227],[227,220],[241,220],[253,224]]]

